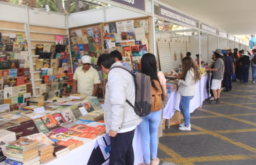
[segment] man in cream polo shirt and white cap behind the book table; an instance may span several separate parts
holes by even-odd
[[[96,69],[90,64],[90,56],[82,56],[83,66],[76,68],[73,76],[73,93],[81,93],[85,96],[97,96],[98,85],[101,83],[100,76]]]

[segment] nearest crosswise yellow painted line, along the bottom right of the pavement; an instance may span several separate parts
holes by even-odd
[[[230,160],[250,160],[255,159],[256,155],[221,155],[221,156],[200,156],[200,157],[187,157],[189,162],[212,162],[212,161],[230,161]],[[172,161],[172,158],[165,159],[168,162]]]

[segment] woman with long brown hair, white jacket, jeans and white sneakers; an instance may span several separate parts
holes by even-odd
[[[201,75],[198,68],[195,66],[194,61],[190,57],[185,57],[182,60],[182,73],[176,75],[179,79],[179,94],[180,94],[180,111],[184,117],[184,123],[180,124],[180,130],[191,130],[190,127],[190,113],[189,104],[190,100],[195,95],[195,83],[200,80]]]

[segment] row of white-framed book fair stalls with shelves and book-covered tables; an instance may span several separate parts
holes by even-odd
[[[156,56],[158,70],[168,80],[160,137],[164,122],[168,127],[180,122],[178,81],[171,72],[181,71],[187,52],[193,59],[202,54],[197,63],[202,79],[190,104],[192,113],[209,97],[204,67],[211,63],[212,51],[249,50],[248,43],[158,1],[101,2],[111,6],[72,14],[0,2],[0,138],[5,143],[0,154],[6,162],[108,164],[110,139],[103,120],[107,75],[97,65],[103,53],[120,51],[135,72],[143,54]],[[9,11],[12,14],[6,14]],[[170,30],[170,25],[176,29]],[[98,98],[71,94],[73,74],[84,55],[92,57],[101,79]],[[138,127],[133,147],[137,165],[143,162]],[[13,154],[18,149],[23,151],[20,156]]]

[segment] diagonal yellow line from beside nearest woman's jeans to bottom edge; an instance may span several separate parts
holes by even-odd
[[[172,149],[168,148],[167,146],[159,143],[158,148],[162,150],[164,153],[166,153],[168,156],[172,158],[172,163],[176,164],[193,164],[189,162],[186,158],[183,158],[181,155],[173,151]],[[161,160],[166,160],[166,159],[161,159]]]

